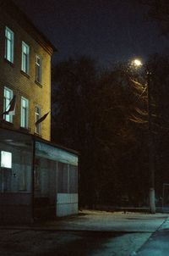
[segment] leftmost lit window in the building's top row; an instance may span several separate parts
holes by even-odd
[[[14,32],[5,28],[5,58],[14,63]]]

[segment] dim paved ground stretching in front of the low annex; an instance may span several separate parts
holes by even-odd
[[[1,226],[0,255],[162,255],[141,254],[141,251],[136,254],[135,252],[139,248],[143,252],[144,248],[150,247],[150,242],[154,241],[150,236],[152,234],[155,236],[154,231],[162,224],[162,226],[167,224],[166,222],[164,224],[167,217],[167,214],[83,211],[79,216],[41,225]]]

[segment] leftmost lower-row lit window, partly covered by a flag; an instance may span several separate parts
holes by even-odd
[[[13,98],[13,91],[8,89],[7,87],[4,87],[3,92],[3,112],[8,111],[10,108],[10,102]],[[12,114],[3,114],[3,119],[7,122],[12,123],[13,122],[13,115]]]

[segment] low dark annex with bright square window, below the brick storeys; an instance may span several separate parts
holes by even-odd
[[[78,214],[78,153],[0,128],[0,221]]]

